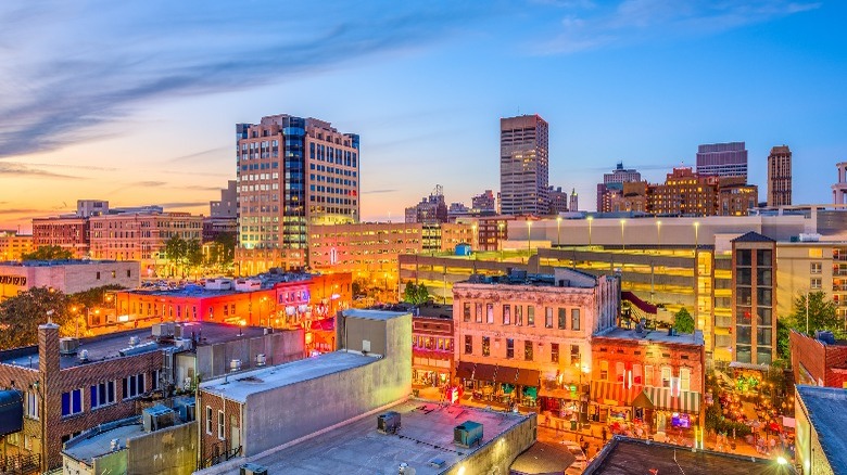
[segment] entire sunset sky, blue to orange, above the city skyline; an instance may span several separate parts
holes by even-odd
[[[291,114],[361,136],[362,217],[500,185],[500,118],[549,123],[549,183],[594,209],[618,162],[663,181],[745,141],[766,200],[830,203],[847,159],[847,2],[0,2],[0,229],[77,200],[208,214],[235,125]]]

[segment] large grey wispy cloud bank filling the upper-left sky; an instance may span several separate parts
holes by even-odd
[[[199,0],[0,3],[0,157],[100,137],[100,126],[143,101],[279,82],[437,41],[486,14],[446,1],[261,9]]]

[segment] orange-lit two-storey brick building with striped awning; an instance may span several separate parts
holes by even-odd
[[[594,335],[591,351],[593,420],[634,419],[660,432],[696,424],[705,386],[703,332],[614,329]]]

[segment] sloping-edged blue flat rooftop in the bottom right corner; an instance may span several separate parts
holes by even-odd
[[[823,453],[835,473],[847,473],[847,389],[801,386],[797,394],[809,413]]]

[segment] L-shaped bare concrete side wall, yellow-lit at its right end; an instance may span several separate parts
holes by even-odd
[[[349,330],[379,322],[387,356],[364,367],[254,394],[244,406],[244,454],[255,455],[408,397],[412,316],[387,321],[347,319]],[[274,414],[269,418],[268,414]]]

